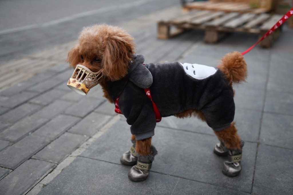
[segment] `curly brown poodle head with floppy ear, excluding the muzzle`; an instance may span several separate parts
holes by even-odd
[[[103,77],[116,81],[127,74],[135,44],[125,30],[108,25],[85,27],[67,57],[71,67],[83,65],[92,72],[102,70]]]

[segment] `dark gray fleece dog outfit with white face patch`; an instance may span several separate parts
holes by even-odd
[[[144,91],[148,88],[162,117],[200,110],[214,131],[228,128],[233,122],[233,89],[220,69],[179,62],[143,62],[143,55],[134,55],[128,74],[108,86],[113,101],[120,96],[120,110],[136,140],[154,135],[154,108]]]

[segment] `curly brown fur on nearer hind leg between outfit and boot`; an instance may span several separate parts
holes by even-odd
[[[224,143],[224,145],[230,150],[239,150],[241,151],[241,140],[237,134],[237,129],[235,123],[231,123],[230,127],[214,132],[218,139]]]

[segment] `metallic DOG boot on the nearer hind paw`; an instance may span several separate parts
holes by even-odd
[[[244,145],[244,141],[241,140],[241,143],[242,148]],[[224,162],[222,172],[229,177],[235,177],[241,172],[242,150],[228,150],[228,158],[229,160]]]

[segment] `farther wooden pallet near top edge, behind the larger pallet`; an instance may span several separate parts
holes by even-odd
[[[265,13],[271,10],[270,7],[251,8],[246,1],[240,1],[240,2],[198,1],[198,2],[185,4],[183,6],[183,9],[186,11],[199,9],[199,10],[213,10],[213,11],[239,12],[239,13]]]

